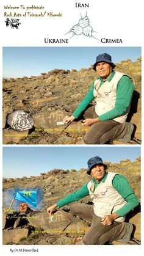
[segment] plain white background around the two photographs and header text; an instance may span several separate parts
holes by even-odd
[[[82,1],[84,2],[84,1]],[[101,37],[107,37],[107,38],[122,38],[123,39],[123,45],[120,46],[136,46],[136,47],[142,47],[142,56],[143,56],[143,40],[142,40],[142,20],[143,20],[143,13],[142,13],[142,1],[106,1],[103,2],[96,2],[96,1],[88,1],[92,8],[88,9],[88,16],[90,16],[90,21],[92,24],[95,24],[96,20],[96,29],[99,31],[99,35]],[[43,38],[45,37],[51,37],[51,38],[63,38],[65,37],[64,34],[67,32],[68,27],[71,27],[71,24],[73,25],[74,21],[79,19],[79,12],[81,10],[75,9],[74,7],[75,1],[65,1],[62,0],[60,2],[54,1],[27,1],[27,0],[5,0],[1,1],[1,31],[2,31],[2,37],[1,37],[1,81],[2,81],[2,46],[41,46],[41,47],[57,47],[57,46],[63,46],[63,45],[45,45]],[[11,5],[18,5],[18,4],[37,4],[37,5],[45,5],[46,8],[50,6],[49,8],[51,10],[54,10],[57,12],[64,13],[63,19],[60,21],[59,29],[57,29],[57,20],[37,20],[35,18],[26,18],[23,19],[23,26],[21,26],[21,29],[11,30],[9,32],[6,31],[3,17],[3,5],[5,4],[11,4]],[[105,7],[105,8],[104,8]],[[107,20],[109,21],[107,23]],[[22,21],[22,20],[21,20]],[[67,21],[67,22],[65,22]],[[45,23],[43,25],[43,23]],[[52,24],[51,24],[52,23]],[[32,32],[32,29],[37,27],[37,31],[35,33]],[[34,29],[35,30],[35,29]],[[57,34],[57,35],[56,35]],[[68,46],[119,46],[118,44],[113,45],[112,43],[109,43],[109,45],[105,44],[99,44],[98,42],[95,42],[92,38],[78,38],[73,37],[70,40],[70,43],[68,45],[64,45],[65,47]],[[92,40],[91,40],[92,39]],[[143,64],[142,64],[143,65]],[[142,77],[143,77],[143,67],[142,67]],[[143,81],[143,79],[142,79]],[[1,89],[2,93],[2,89]],[[143,98],[143,90],[142,90],[142,98]],[[2,97],[1,97],[1,106],[2,106]],[[143,111],[143,104],[142,104],[142,111]],[[2,113],[1,113],[2,114]],[[143,114],[143,112],[142,112]],[[1,115],[2,120],[2,115]],[[2,123],[2,122],[1,122]],[[1,124],[2,125],[2,124]],[[142,139],[143,139],[143,119],[142,119]],[[7,147],[7,145],[4,145],[3,147]],[[8,145],[9,147],[9,145]],[[10,147],[17,147],[17,145],[12,145]],[[32,147],[32,146],[29,146]],[[56,146],[55,146],[56,147]],[[59,146],[57,146],[59,147]],[[68,145],[67,147],[71,147],[71,145]],[[103,147],[103,145],[99,145],[99,147]],[[113,146],[112,146],[113,147]],[[114,146],[115,147],[115,146]],[[132,145],[132,147],[135,147]],[[142,148],[141,156],[143,156],[143,143],[142,146],[138,146]],[[1,156],[2,156],[2,133],[1,133]],[[2,159],[2,158],[1,158]],[[143,158],[142,158],[142,167],[143,167]],[[2,161],[1,161],[1,170],[2,170]],[[141,169],[142,172],[142,188],[143,188],[143,169]],[[142,191],[142,202],[143,202],[143,191]],[[1,172],[1,207],[2,207],[2,172]],[[2,213],[1,213],[2,214]],[[143,217],[143,204],[142,204],[142,217]],[[2,215],[1,215],[2,219]],[[143,218],[142,218],[142,227],[143,227]],[[143,239],[143,229],[142,229],[142,239]],[[9,252],[10,246],[2,246],[2,232],[1,232],[1,250],[4,254],[10,255]],[[19,247],[19,246],[18,246]],[[20,246],[20,247],[26,247],[26,246]],[[29,246],[27,246],[29,247]],[[90,252],[94,252],[93,250],[96,250],[96,253],[99,254],[107,254],[107,246],[106,248],[103,246],[96,247],[85,247],[84,249],[81,249],[81,246],[49,246],[48,251],[45,249],[45,246],[34,246],[38,247],[39,252],[38,254],[47,255],[48,253],[59,253],[63,255],[67,255],[69,252],[72,252],[73,254],[76,254],[77,252],[87,255]],[[32,246],[31,246],[32,248]],[[117,255],[121,254],[128,254],[135,255],[135,254],[142,254],[143,249],[143,240],[141,246],[111,246],[109,247],[109,254],[114,255],[117,253]],[[18,255],[18,254],[13,254]],[[28,253],[27,253],[28,255]]]

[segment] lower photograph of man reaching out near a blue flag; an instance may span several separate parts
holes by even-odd
[[[140,147],[3,147],[4,245],[140,245]]]

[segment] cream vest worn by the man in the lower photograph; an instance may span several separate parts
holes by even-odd
[[[93,180],[88,182],[87,188],[93,200],[93,211],[96,216],[103,218],[104,215],[115,213],[126,204],[117,189],[112,186],[112,180],[117,173],[108,172],[105,182],[100,182],[95,189]],[[94,191],[95,189],[95,191]],[[119,217],[115,221],[123,222],[126,216]]]

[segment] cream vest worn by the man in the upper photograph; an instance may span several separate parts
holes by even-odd
[[[100,88],[100,79],[98,78],[95,80],[93,95],[96,98],[95,112],[97,115],[105,114],[106,112],[115,108],[117,84],[122,78],[122,76],[126,75],[118,71],[115,71],[115,75],[113,76],[112,80],[104,82],[104,84]],[[115,119],[113,120],[119,123],[124,123],[128,117],[130,108],[131,104],[129,104],[128,108],[122,115],[115,117]]]

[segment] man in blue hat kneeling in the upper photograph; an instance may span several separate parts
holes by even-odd
[[[131,141],[134,125],[126,119],[131,107],[134,84],[124,73],[113,70],[115,64],[109,54],[96,57],[93,69],[98,78],[93,82],[84,100],[72,106],[73,114],[66,116],[64,123],[82,118],[82,125],[90,126],[84,136],[85,144],[106,144],[114,139]],[[90,105],[96,100],[95,106]]]

